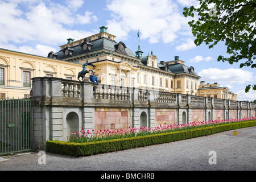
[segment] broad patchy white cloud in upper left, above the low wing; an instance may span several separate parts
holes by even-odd
[[[64,3],[30,1],[26,9],[19,6],[20,1],[0,1],[0,39],[2,44],[37,42],[59,46],[67,43],[68,38],[84,38],[94,32],[77,31],[65,28],[80,23],[92,23],[97,20],[93,13],[86,11],[80,15],[76,12],[83,2],[80,0]],[[5,18],[2,18],[5,17]],[[86,18],[78,21],[77,18]],[[40,43],[39,43],[40,41]],[[36,50],[36,47],[34,48]],[[41,55],[41,53],[40,53]]]

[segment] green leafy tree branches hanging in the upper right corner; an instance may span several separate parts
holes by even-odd
[[[195,15],[198,19],[188,22],[195,36],[196,46],[203,42],[209,48],[218,42],[225,42],[229,57],[218,56],[217,61],[229,64],[240,62],[240,68],[256,68],[256,1],[255,0],[198,0],[200,7],[184,7],[185,17]],[[241,61],[245,61],[241,63]],[[256,85],[247,85],[256,90]]]

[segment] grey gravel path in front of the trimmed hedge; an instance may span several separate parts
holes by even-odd
[[[45,164],[39,151],[5,156],[0,171],[255,171],[256,127],[236,131],[79,158],[46,152]]]

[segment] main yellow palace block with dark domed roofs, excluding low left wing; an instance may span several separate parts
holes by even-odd
[[[185,66],[178,56],[158,63],[152,51],[143,56],[140,45],[134,55],[125,43],[115,42],[107,29],[102,26],[100,33],[76,41],[69,38],[59,52],[50,52],[48,57],[92,66],[101,84],[197,95],[200,76],[193,67]]]

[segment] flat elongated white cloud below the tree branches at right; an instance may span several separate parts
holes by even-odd
[[[206,82],[218,82],[220,84],[244,84],[253,81],[253,73],[242,69],[203,69],[199,76]]]

